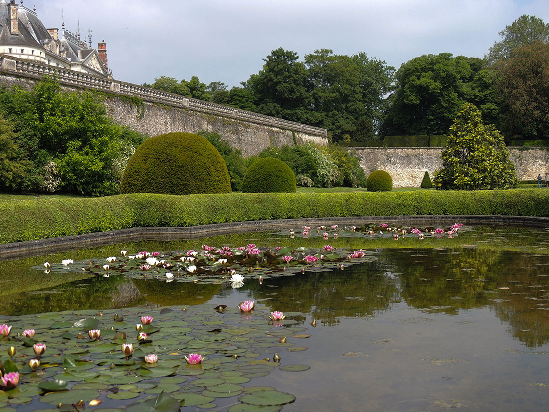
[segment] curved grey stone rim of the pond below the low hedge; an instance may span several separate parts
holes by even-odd
[[[227,235],[231,233],[264,232],[267,230],[289,229],[291,227],[300,228],[305,225],[350,226],[372,222],[423,225],[451,225],[453,223],[460,222],[463,224],[486,224],[493,226],[513,225],[547,227],[549,229],[549,218],[537,216],[413,215],[253,220],[189,227],[132,227],[131,229],[87,233],[85,235],[5,243],[0,245],[0,260],[20,259],[48,253],[63,252],[64,250],[85,249],[122,242],[138,242],[143,240],[188,240],[207,236]]]

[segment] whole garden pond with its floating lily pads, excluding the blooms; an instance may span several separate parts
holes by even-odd
[[[464,226],[450,237],[428,232],[419,240],[408,231],[395,240],[384,230],[369,236],[340,228],[324,240],[324,230],[304,238],[294,229],[293,238],[284,230],[126,243],[0,263],[0,324],[14,325],[0,341],[0,360],[6,365],[8,348],[16,347],[22,373],[18,387],[0,393],[0,412],[58,403],[62,410],[177,410],[164,398],[166,409],[135,404],[163,389],[177,405],[186,399],[182,411],[547,409],[549,232]],[[275,255],[282,247],[279,253],[323,251],[327,258],[269,269],[234,265],[244,285],[229,275],[166,277],[173,267],[155,272],[119,263],[142,250],[174,251],[159,259],[181,260],[191,249],[203,253],[203,244],[237,250],[249,243]],[[364,257],[349,260],[360,249]],[[128,255],[120,258],[120,250]],[[105,271],[110,256],[117,260]],[[77,270],[62,259],[74,260]],[[239,310],[245,300],[254,300],[255,310]],[[275,310],[286,318],[269,319]],[[153,322],[143,325],[149,336],[139,344],[135,326],[143,315]],[[23,325],[36,329],[33,341],[46,342],[35,372],[23,367],[33,342],[25,347],[14,333]],[[86,332],[96,327],[102,335],[93,340]],[[127,358],[124,341],[138,347]],[[158,364],[145,364],[153,352]],[[205,360],[186,365],[189,353]],[[44,381],[66,386],[41,389],[37,382]],[[102,403],[89,406],[93,399]]]

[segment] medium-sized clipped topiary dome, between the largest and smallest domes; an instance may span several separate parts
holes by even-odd
[[[262,157],[250,165],[242,180],[242,191],[251,193],[295,192],[295,174],[290,166],[273,157]]]

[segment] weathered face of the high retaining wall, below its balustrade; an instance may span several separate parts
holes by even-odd
[[[296,143],[327,144],[325,137],[302,131],[249,123],[163,104],[143,102],[143,105],[136,105],[118,97],[109,97],[106,104],[108,114],[114,121],[130,126],[139,133],[156,136],[169,132],[197,133],[207,130],[219,133],[231,146],[240,149],[244,156],[257,154],[269,146],[292,145],[294,135]]]

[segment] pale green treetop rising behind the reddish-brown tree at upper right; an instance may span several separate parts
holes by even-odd
[[[496,41],[484,56],[486,63],[490,65],[511,57],[519,47],[537,42],[549,43],[549,23],[546,24],[536,16],[523,14],[511,25],[505,26],[499,35],[502,40]]]

